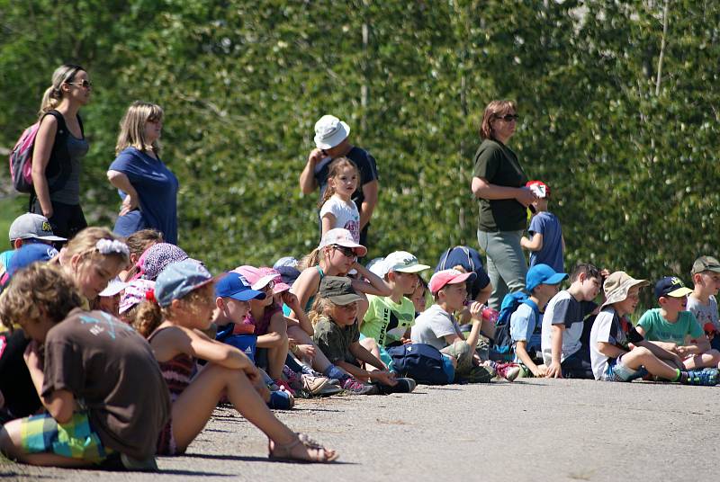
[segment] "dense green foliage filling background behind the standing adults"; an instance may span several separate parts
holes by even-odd
[[[87,67],[85,210],[112,223],[104,171],[126,106],[166,110],[181,245],[212,268],[318,241],[298,175],[324,113],[377,158],[371,256],[432,263],[477,245],[469,190],[483,106],[518,101],[511,147],[553,188],[567,262],[688,278],[717,254],[720,4],[536,0],[0,0],[0,145],[54,67]]]

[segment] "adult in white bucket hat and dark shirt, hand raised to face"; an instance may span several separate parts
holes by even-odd
[[[377,205],[378,176],[375,158],[348,140],[350,127],[333,115],[324,115],[315,123],[315,146],[300,174],[300,189],[310,194],[320,186],[320,199],[328,185],[328,166],[338,157],[347,157],[360,170],[360,183],[353,201],[360,211],[360,244],[367,245],[367,228]]]

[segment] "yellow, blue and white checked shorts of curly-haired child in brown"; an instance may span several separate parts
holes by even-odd
[[[76,460],[100,463],[112,454],[103,446],[85,413],[73,414],[67,424],[58,424],[49,414],[23,418],[21,444],[26,453],[54,453]]]

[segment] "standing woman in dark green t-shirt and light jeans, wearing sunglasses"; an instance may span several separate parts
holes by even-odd
[[[478,198],[478,243],[488,256],[491,308],[500,309],[508,292],[525,288],[527,262],[520,238],[527,206],[536,195],[525,187],[527,175],[506,145],[515,133],[518,110],[513,101],[492,101],[482,116],[482,144],[475,154],[473,195]]]

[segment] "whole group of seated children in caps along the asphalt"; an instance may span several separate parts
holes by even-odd
[[[344,201],[352,165],[338,173]],[[500,328],[483,304],[491,286],[482,261],[465,246],[442,254],[426,284],[419,273],[431,268],[413,254],[396,251],[368,268],[354,233],[323,223],[320,245],[302,263],[281,258],[274,268],[240,265],[213,277],[151,230],[120,239],[85,228],[58,253],[38,216],[16,220],[0,272],[9,328],[0,335],[0,450],[26,463],[156,469],[155,455],[184,453],[218,403],[266,434],[272,459],[336,460],[337,451],[293,433],[271,409],[343,390],[411,392],[422,378],[397,363],[413,347],[437,355],[444,383],[717,383],[720,353],[706,335],[717,339],[720,263],[711,257],[693,266],[694,291],[678,278],[658,281],[660,308],[637,326],[627,317],[647,281],[582,263],[558,292],[568,275],[536,263],[509,317],[514,358],[503,361],[482,348]]]

